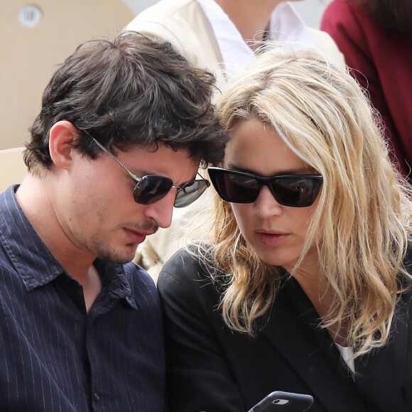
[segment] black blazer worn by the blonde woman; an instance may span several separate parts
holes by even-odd
[[[166,263],[158,290],[171,411],[243,412],[276,390],[311,394],[310,412],[412,411],[411,292],[399,300],[389,344],[355,361],[353,381],[293,278],[253,338],[224,325],[219,286],[187,252]]]

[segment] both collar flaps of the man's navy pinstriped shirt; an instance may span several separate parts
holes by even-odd
[[[50,253],[28,221],[16,199],[18,185],[0,194],[0,243],[21,276],[28,291],[43,286],[67,272]],[[102,283],[119,298],[129,302],[131,288],[124,266],[96,259]]]

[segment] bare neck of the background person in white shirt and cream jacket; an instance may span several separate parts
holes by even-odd
[[[272,11],[283,0],[215,0],[227,13],[244,40],[262,40]]]

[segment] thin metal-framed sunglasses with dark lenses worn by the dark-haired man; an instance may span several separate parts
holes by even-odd
[[[99,146],[99,148],[111,157],[114,161],[119,163],[119,165],[129,173],[130,177],[136,180],[136,186],[133,190],[133,197],[136,203],[139,205],[151,205],[158,200],[163,199],[169,191],[174,188],[176,190],[175,197],[175,207],[185,207],[190,205],[190,203],[197,200],[200,195],[210,186],[209,180],[206,179],[197,179],[192,180],[188,183],[185,183],[182,186],[173,186],[173,180],[166,178],[165,176],[158,175],[146,175],[143,178],[137,177],[132,173],[126,166],[124,166],[121,161],[119,161],[114,154],[110,153],[107,148],[105,148],[102,143],[94,139],[94,137],[86,130],[83,130],[87,136],[90,136],[92,141]],[[197,173],[199,175],[199,173]],[[202,177],[202,176],[200,176]]]

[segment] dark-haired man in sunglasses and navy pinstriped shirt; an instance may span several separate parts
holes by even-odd
[[[156,288],[128,262],[222,159],[213,80],[127,32],[53,75],[28,176],[0,195],[1,411],[166,408]]]

